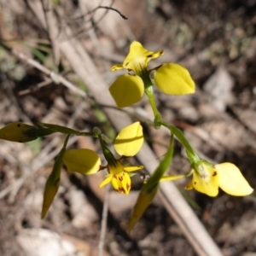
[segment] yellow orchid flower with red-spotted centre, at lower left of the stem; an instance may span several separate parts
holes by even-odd
[[[107,183],[112,183],[113,189],[119,191],[119,193],[129,194],[131,189],[131,173],[143,168],[143,166],[129,166],[123,165],[122,158],[131,157],[137,154],[137,152],[143,146],[143,127],[139,122],[132,125],[128,125],[123,128],[119,135],[115,138],[114,148],[116,152],[121,155],[121,159],[117,160],[113,157],[113,154],[102,142],[102,138],[99,137],[102,144],[103,154],[108,161],[107,166],[101,166],[100,157],[92,150],[84,149],[71,149],[64,155],[64,163],[67,166],[68,172],[79,172],[85,175],[99,172],[100,170],[107,168],[108,175],[100,184],[102,188]]]

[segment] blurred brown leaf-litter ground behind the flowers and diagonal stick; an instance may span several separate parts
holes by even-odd
[[[165,50],[150,67],[177,62],[195,79],[195,95],[155,90],[163,118],[183,130],[202,158],[235,163],[255,188],[256,0],[0,0],[0,40],[0,127],[15,120],[80,131],[98,126],[113,139],[117,131],[104,113],[106,106],[98,104],[72,55],[60,45],[79,42],[77,50],[83,46],[109,86],[123,73],[110,67],[121,63],[137,40],[146,49]],[[87,64],[84,68],[90,69]],[[146,98],[132,109],[152,119]],[[165,154],[166,131],[143,127],[156,157]],[[0,255],[97,255],[104,200],[104,189],[97,187],[104,173],[82,177],[63,169],[55,201],[40,219],[44,183],[62,142],[61,135],[26,144],[1,140]],[[101,154],[89,137],[72,142],[73,148]],[[177,143],[170,173],[188,171]],[[224,255],[255,256],[255,196],[235,198],[220,191],[212,199],[184,191],[187,182],[176,184]],[[131,236],[125,233],[142,183],[134,177],[129,196],[110,190],[105,255],[196,255],[158,198]]]

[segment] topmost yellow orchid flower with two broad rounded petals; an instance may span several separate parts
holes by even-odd
[[[119,76],[109,87],[119,108],[125,108],[139,102],[148,86],[149,74],[154,70],[154,83],[164,93],[184,95],[195,92],[195,83],[189,71],[176,63],[165,63],[148,69],[148,62],[163,55],[164,51],[149,51],[137,41],[131,43],[130,52],[122,64],[114,65],[112,71],[125,68],[133,74]],[[145,82],[147,85],[145,85]],[[150,82],[151,83],[151,82]],[[149,84],[151,85],[151,84]]]

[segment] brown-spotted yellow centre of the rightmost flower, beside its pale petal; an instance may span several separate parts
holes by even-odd
[[[192,183],[194,189],[209,196],[218,195],[219,175],[217,170],[210,166],[201,165],[201,173],[193,172]]]

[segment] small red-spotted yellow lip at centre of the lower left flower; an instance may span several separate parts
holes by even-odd
[[[118,190],[119,193],[128,195],[131,189],[131,177],[127,172],[113,174],[112,185],[113,189]]]

